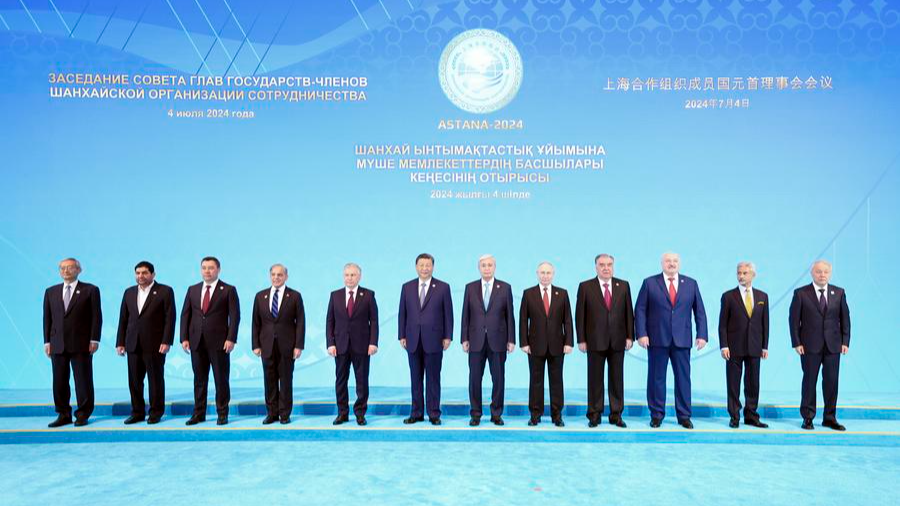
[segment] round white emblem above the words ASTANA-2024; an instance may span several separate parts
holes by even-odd
[[[447,44],[438,66],[441,89],[464,111],[494,112],[522,85],[522,57],[512,41],[493,30],[468,30]]]

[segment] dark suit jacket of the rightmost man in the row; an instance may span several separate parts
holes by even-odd
[[[803,345],[807,353],[840,353],[850,346],[850,309],[844,289],[828,285],[828,307],[823,314],[812,283],[794,290],[791,300],[791,346]]]

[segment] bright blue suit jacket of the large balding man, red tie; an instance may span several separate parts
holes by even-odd
[[[693,343],[691,313],[697,323],[697,338],[709,339],[706,310],[697,282],[678,275],[675,306],[669,301],[669,288],[663,274],[650,276],[641,285],[634,308],[634,326],[638,337],[648,336],[650,346],[690,348]]]

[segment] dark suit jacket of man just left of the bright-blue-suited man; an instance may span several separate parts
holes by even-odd
[[[612,300],[606,309],[598,278],[582,281],[575,299],[575,330],[578,342],[587,343],[591,351],[625,349],[627,339],[634,340],[634,310],[631,287],[619,278],[610,280]]]

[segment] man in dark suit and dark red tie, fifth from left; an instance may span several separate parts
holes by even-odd
[[[325,318],[325,341],[328,354],[334,357],[334,392],[338,415],[332,422],[340,425],[350,420],[350,394],[347,381],[350,365],[356,377],[356,402],[353,414],[357,425],[366,424],[369,406],[369,361],[378,353],[378,303],[375,292],[359,286],[362,269],[349,263],[344,266],[344,287],[331,292]]]

